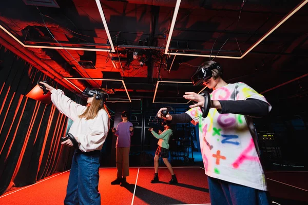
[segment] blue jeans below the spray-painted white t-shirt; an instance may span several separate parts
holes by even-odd
[[[257,190],[236,183],[231,183],[207,177],[209,196],[212,205],[236,204],[236,205],[268,205],[267,192]]]

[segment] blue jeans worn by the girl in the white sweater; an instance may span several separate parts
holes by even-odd
[[[101,204],[99,193],[100,150],[76,150],[72,159],[64,204]]]

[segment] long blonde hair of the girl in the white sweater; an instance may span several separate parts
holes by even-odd
[[[101,93],[107,94],[103,89],[95,89]],[[107,112],[108,117],[110,118],[110,114],[107,110],[107,107],[103,101],[103,99],[95,99],[97,95],[94,94],[94,98],[92,100],[92,103],[90,104],[90,106],[87,107],[87,109],[85,110],[84,113],[82,113],[81,115],[79,115],[80,118],[85,117],[86,120],[89,119],[94,119],[95,117],[98,116],[98,113],[101,109],[105,110]]]

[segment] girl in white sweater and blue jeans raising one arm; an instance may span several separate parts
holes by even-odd
[[[74,122],[69,133],[76,140],[67,139],[61,144],[74,146],[64,204],[101,204],[98,191],[101,149],[108,135],[110,121],[105,100],[108,94],[101,89],[88,89],[89,106],[82,106],[64,95],[59,89],[43,84],[51,92],[54,106]],[[77,143],[78,142],[78,143]]]

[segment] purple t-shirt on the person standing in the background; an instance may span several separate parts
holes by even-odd
[[[130,148],[130,137],[132,136],[132,132],[129,132],[129,127],[132,127],[132,123],[130,121],[120,122],[117,126],[117,132],[114,134],[118,136],[116,148]]]

